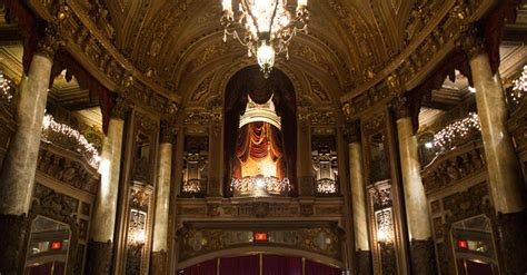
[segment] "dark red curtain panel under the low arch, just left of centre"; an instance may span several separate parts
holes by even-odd
[[[260,255],[221,258],[220,274],[222,275],[259,275]]]

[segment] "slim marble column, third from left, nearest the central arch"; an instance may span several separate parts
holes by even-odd
[[[153,240],[150,274],[167,274],[168,247],[170,244],[169,214],[170,185],[172,171],[172,148],[175,143],[175,125],[162,122],[161,143],[159,146],[159,167],[157,180],[156,217],[153,224]]]

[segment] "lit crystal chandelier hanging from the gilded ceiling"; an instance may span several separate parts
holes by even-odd
[[[232,10],[232,3],[239,3],[237,11]],[[248,56],[257,57],[266,78],[275,65],[275,56],[285,52],[289,59],[291,38],[298,32],[307,33],[307,0],[297,0],[295,17],[287,10],[287,0],[222,0],[222,6],[223,42],[229,35],[247,47]]]

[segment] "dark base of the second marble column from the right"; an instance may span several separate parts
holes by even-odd
[[[412,274],[437,274],[434,240],[411,240],[410,261]]]

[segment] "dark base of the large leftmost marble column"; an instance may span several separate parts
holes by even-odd
[[[26,215],[0,214],[0,274],[22,274],[26,261]]]

